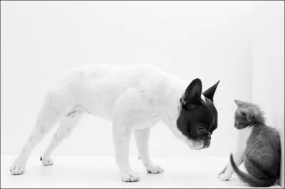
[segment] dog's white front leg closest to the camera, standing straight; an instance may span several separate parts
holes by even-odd
[[[130,168],[129,147],[131,134],[132,129],[130,127],[114,124],[115,158],[119,166],[120,177],[124,182],[136,182],[140,180],[140,176]]]

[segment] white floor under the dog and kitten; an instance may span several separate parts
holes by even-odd
[[[24,175],[10,175],[14,156],[1,156],[1,188],[248,188],[236,175],[228,182],[217,179],[227,158],[153,157],[165,173],[150,175],[131,157],[131,166],[141,176],[137,183],[120,180],[113,156],[54,158],[53,166],[43,167],[38,156],[31,156]]]

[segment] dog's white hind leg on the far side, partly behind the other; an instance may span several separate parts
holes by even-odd
[[[51,153],[56,149],[59,144],[61,144],[63,139],[67,139],[68,136],[71,135],[73,129],[75,129],[79,121],[81,121],[83,115],[83,111],[73,108],[61,118],[58,130],[56,131],[56,134],[53,135],[53,139],[51,139],[51,144],[48,145],[48,148],[46,148],[46,151],[43,153],[43,156],[41,156],[43,166],[53,165]]]

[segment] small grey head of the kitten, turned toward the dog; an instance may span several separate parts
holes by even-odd
[[[234,113],[234,127],[243,129],[254,124],[264,124],[264,114],[257,104],[242,102],[239,99],[235,99],[234,103],[237,104]]]

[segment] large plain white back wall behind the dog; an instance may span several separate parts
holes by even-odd
[[[204,89],[220,80],[211,147],[192,151],[159,124],[150,152],[228,156],[234,99],[252,100],[252,9],[247,1],[1,1],[1,154],[19,153],[46,90],[66,70],[149,63],[189,82],[200,77]],[[56,153],[113,154],[111,124],[86,116]]]

